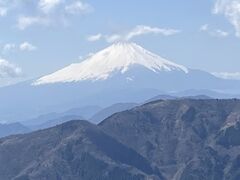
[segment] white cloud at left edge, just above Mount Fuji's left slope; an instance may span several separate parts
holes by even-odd
[[[0,78],[14,78],[22,74],[22,69],[0,58]]]

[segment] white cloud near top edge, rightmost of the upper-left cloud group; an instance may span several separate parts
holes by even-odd
[[[84,14],[91,12],[93,7],[90,4],[81,1],[73,2],[65,7],[65,11],[70,14]]]

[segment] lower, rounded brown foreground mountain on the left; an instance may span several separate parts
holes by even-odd
[[[162,179],[145,158],[86,121],[71,121],[28,135],[0,139],[0,179],[147,177]]]

